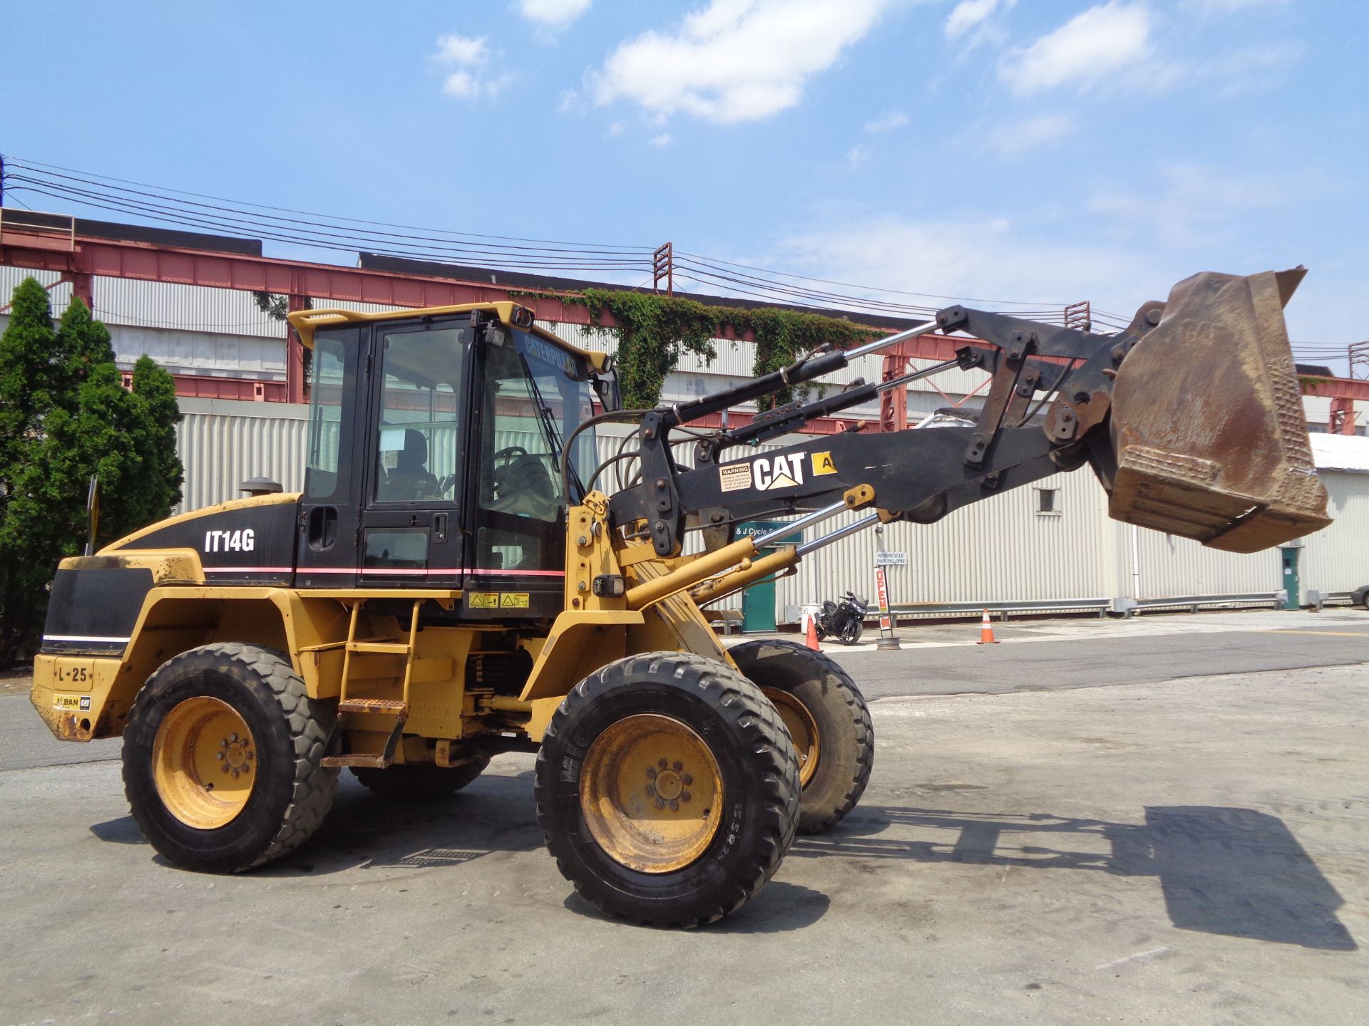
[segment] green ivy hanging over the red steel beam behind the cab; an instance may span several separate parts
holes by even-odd
[[[513,298],[527,295],[552,298],[546,293],[511,293]],[[824,345],[845,349],[878,335],[879,328],[856,324],[820,313],[778,306],[708,306],[697,300],[658,293],[638,293],[615,289],[586,289],[580,294],[556,294],[554,298],[585,306],[590,320],[604,313],[613,317],[606,328],[617,338],[617,380],[623,391],[623,405],[628,409],[652,409],[661,399],[665,376],[679,364],[684,352],[705,360],[717,356],[713,339],[731,327],[738,337],[750,332],[756,342],[752,373],[761,375],[789,367]],[[585,328],[591,332],[598,326]],[[820,389],[820,386],[817,386]],[[801,386],[802,397],[815,386]],[[794,398],[794,390],[775,394],[776,404]]]

